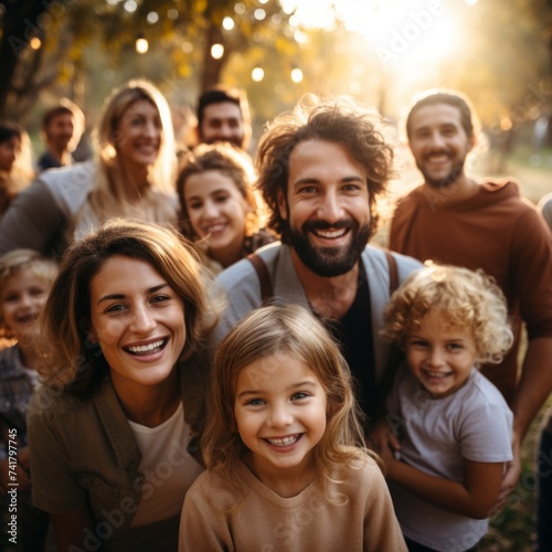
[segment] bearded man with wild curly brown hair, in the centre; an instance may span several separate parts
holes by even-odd
[[[219,276],[227,308],[213,346],[263,301],[302,305],[340,343],[360,404],[374,414],[389,353],[379,332],[393,270],[385,252],[368,241],[392,161],[380,116],[350,98],[309,95],[276,117],[259,141],[257,169],[268,226],[282,243]],[[421,266],[393,258],[399,282]]]

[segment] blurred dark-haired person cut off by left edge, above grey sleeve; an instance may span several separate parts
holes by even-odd
[[[0,217],[33,178],[29,135],[15,123],[0,123]]]

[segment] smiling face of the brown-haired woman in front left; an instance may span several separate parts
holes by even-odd
[[[91,283],[91,333],[116,389],[163,384],[185,344],[184,305],[149,263],[114,255]]]

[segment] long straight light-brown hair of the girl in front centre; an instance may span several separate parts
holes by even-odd
[[[351,388],[351,374],[337,344],[310,312],[299,306],[268,306],[250,312],[220,344],[209,401],[210,416],[202,439],[208,469],[219,471],[231,484],[236,464],[247,450],[234,416],[240,373],[252,363],[275,354],[289,354],[304,362],[327,394],[327,426],[314,448],[316,479],[330,501],[329,485],[336,481],[339,465],[362,457],[364,448],[361,416]],[[275,363],[267,362],[274,371]],[[359,448],[360,447],[360,448]],[[340,497],[342,500],[342,497]]]

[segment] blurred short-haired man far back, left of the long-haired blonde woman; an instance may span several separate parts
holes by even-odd
[[[73,164],[71,153],[84,132],[84,114],[71,99],[62,98],[42,115],[42,138],[45,151],[39,158],[39,171]]]

